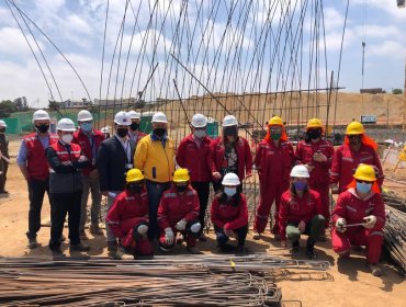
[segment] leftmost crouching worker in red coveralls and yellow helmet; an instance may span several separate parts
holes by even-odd
[[[140,170],[131,169],[127,172],[125,191],[114,200],[105,219],[121,245],[114,259],[123,259],[126,252],[134,258],[154,254],[153,245],[147,236],[148,196]]]

